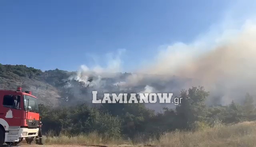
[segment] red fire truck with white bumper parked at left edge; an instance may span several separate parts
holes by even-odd
[[[0,145],[38,135],[38,101],[31,91],[0,90]]]

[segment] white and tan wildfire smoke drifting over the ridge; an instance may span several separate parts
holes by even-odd
[[[124,79],[118,77],[116,72],[122,70],[121,53],[125,52],[122,50],[109,60],[107,68],[95,66],[90,70],[82,66],[76,79],[87,82],[88,77],[94,76],[94,85],[103,90],[118,85],[119,90],[124,91],[172,92],[174,96],[182,88],[203,85],[210,91],[209,104],[239,101],[246,92],[256,95],[256,12],[253,12],[256,6],[255,2],[248,2],[238,2],[227,11],[222,23],[200,34],[194,42],[167,46],[154,57],[154,62],[134,71],[140,74],[127,75]],[[250,5],[247,13],[234,17],[246,8],[245,5]],[[114,81],[106,82],[105,77]]]

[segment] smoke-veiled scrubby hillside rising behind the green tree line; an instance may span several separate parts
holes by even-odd
[[[17,85],[22,85],[24,90],[32,91],[40,103],[46,105],[76,105],[78,103],[91,103],[92,90],[98,93],[138,93],[140,91],[173,89],[174,93],[180,92],[182,84],[186,79],[173,77],[168,81],[161,81],[158,76],[154,78],[150,75],[143,75],[146,81],[136,83],[136,79],[130,79],[132,83],[127,83],[128,87],[122,87],[129,78],[134,78],[131,73],[104,73],[97,75],[95,73],[68,72],[59,69],[41,71],[25,65],[2,65],[0,64],[0,88],[16,89]],[[85,79],[87,78],[87,79]],[[136,77],[137,78],[137,77]],[[150,79],[150,80],[148,80]],[[135,85],[132,85],[134,84]],[[168,89],[166,89],[168,87]],[[180,87],[177,89],[177,87]],[[151,88],[151,89],[150,89]],[[175,89],[174,89],[175,88]],[[66,103],[65,97],[69,100]],[[173,107],[166,104],[146,104],[150,109],[160,111],[162,107]]]

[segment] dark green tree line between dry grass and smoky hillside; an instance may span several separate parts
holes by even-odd
[[[97,131],[108,137],[134,138],[139,134],[158,137],[177,129],[196,131],[220,123],[255,119],[254,99],[249,93],[243,97],[242,104],[232,101],[226,106],[206,105],[209,94],[203,86],[182,89],[182,102],[176,109],[163,108],[162,113],[146,108],[143,103],[103,103],[98,108],[86,103],[56,108],[40,104],[42,131],[51,130],[56,134],[63,130],[70,134]]]

